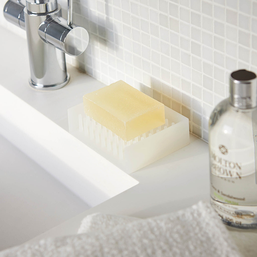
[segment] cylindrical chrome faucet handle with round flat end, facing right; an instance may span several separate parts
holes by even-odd
[[[62,17],[49,17],[40,24],[38,33],[45,42],[71,56],[83,53],[89,41],[86,29],[76,24],[68,25]]]

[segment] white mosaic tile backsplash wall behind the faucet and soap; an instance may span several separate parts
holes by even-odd
[[[188,117],[204,141],[231,71],[257,72],[255,0],[74,0],[73,18],[90,40],[68,62],[106,85],[122,79],[140,89]]]

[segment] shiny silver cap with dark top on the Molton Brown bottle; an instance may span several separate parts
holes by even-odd
[[[248,70],[237,70],[230,75],[230,103],[239,109],[257,106],[257,77]]]

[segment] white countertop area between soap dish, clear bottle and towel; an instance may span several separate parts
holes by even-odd
[[[76,234],[91,213],[152,217],[209,201],[208,145],[190,135],[190,144],[132,174],[139,184],[39,235]]]

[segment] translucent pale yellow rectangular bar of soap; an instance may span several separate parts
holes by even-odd
[[[85,114],[129,141],[165,123],[164,104],[119,80],[83,96]]]

